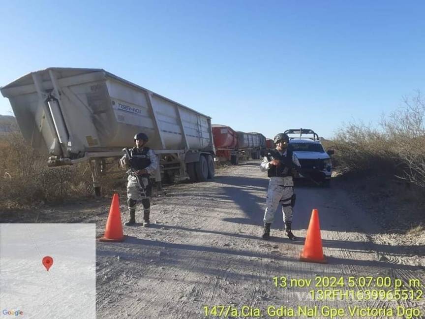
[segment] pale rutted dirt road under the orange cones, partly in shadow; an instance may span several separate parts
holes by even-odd
[[[273,318],[273,308],[267,312],[270,306],[285,306],[287,317],[291,317],[293,308],[293,318],[308,314],[331,318],[326,306],[342,309],[347,318],[368,317],[356,312],[355,306],[380,309],[381,315],[375,318],[390,317],[388,309],[394,309],[397,317],[397,306],[399,311],[404,309],[401,306],[408,309],[405,316],[409,307],[419,309],[411,312],[421,312],[413,318],[425,316],[423,300],[389,301],[387,292],[395,289],[394,283],[402,283],[404,286],[398,289],[412,290],[413,298],[421,299],[423,288],[419,285],[425,285],[424,268],[419,263],[425,253],[423,246],[395,245],[389,240],[393,237],[382,233],[335,185],[330,189],[308,185],[296,188],[293,228],[299,241],[289,241],[284,231],[278,230],[283,228],[281,213],[276,213],[272,239],[262,240],[268,179],[258,165],[259,161],[250,161],[223,168],[213,182],[171,186],[166,197],[153,199],[151,228],[124,227],[128,236],[125,242],[98,242],[97,317],[205,318],[206,306],[208,318],[218,318],[221,308],[215,308],[214,316],[213,306],[225,307],[222,318],[226,312],[228,318],[257,318],[259,314]],[[298,261],[313,208],[319,210],[328,264]],[[126,212],[124,205],[121,209]],[[97,221],[97,235],[101,236],[105,216],[85,222],[92,221]],[[364,283],[357,279],[362,276],[372,278],[365,278]],[[280,277],[286,277],[286,287],[275,287],[273,277],[279,277],[278,286],[285,286]],[[320,283],[326,286],[330,277],[342,277],[343,283],[315,287]],[[349,283],[349,277],[356,278],[357,287],[348,287],[353,283]],[[300,281],[291,285],[291,279]],[[409,287],[411,279],[419,279],[421,284],[410,282]],[[304,280],[311,280],[309,287],[291,287],[308,283]],[[391,287],[377,287],[384,282]],[[336,284],[331,278],[332,283]],[[312,300],[309,291],[314,290],[317,298],[320,289],[353,290],[354,297],[361,297],[358,291],[367,295],[383,290],[381,294],[386,294],[381,295],[383,300],[353,301],[351,295],[348,300],[337,300],[337,295]],[[302,312],[317,306],[317,313],[311,308],[312,312],[304,316],[299,306]]]

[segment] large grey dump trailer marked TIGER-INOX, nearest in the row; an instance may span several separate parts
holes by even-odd
[[[2,87],[24,138],[49,166],[91,163],[93,186],[107,159],[144,132],[160,160],[156,181],[214,175],[211,118],[103,69],[48,68]]]

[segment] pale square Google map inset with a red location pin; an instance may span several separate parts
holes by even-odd
[[[0,224],[0,318],[96,318],[95,224]]]

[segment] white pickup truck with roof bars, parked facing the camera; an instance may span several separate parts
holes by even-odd
[[[319,136],[312,129],[288,129],[285,133],[289,136],[289,145],[300,161],[303,170],[315,181],[329,186],[332,175],[330,155],[333,155],[334,151],[326,152],[320,143]],[[297,136],[294,137],[294,135]],[[298,177],[303,178],[304,176],[299,175]]]

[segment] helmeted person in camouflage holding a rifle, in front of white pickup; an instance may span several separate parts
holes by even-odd
[[[296,240],[291,231],[292,211],[295,204],[291,166],[297,165],[301,168],[301,165],[292,150],[288,150],[289,137],[287,134],[279,133],[274,136],[273,141],[276,148],[267,153],[260,165],[261,171],[267,171],[267,176],[270,178],[264,213],[263,238],[266,240],[270,238],[270,225],[274,221],[277,206],[281,203],[286,234],[289,239]]]

